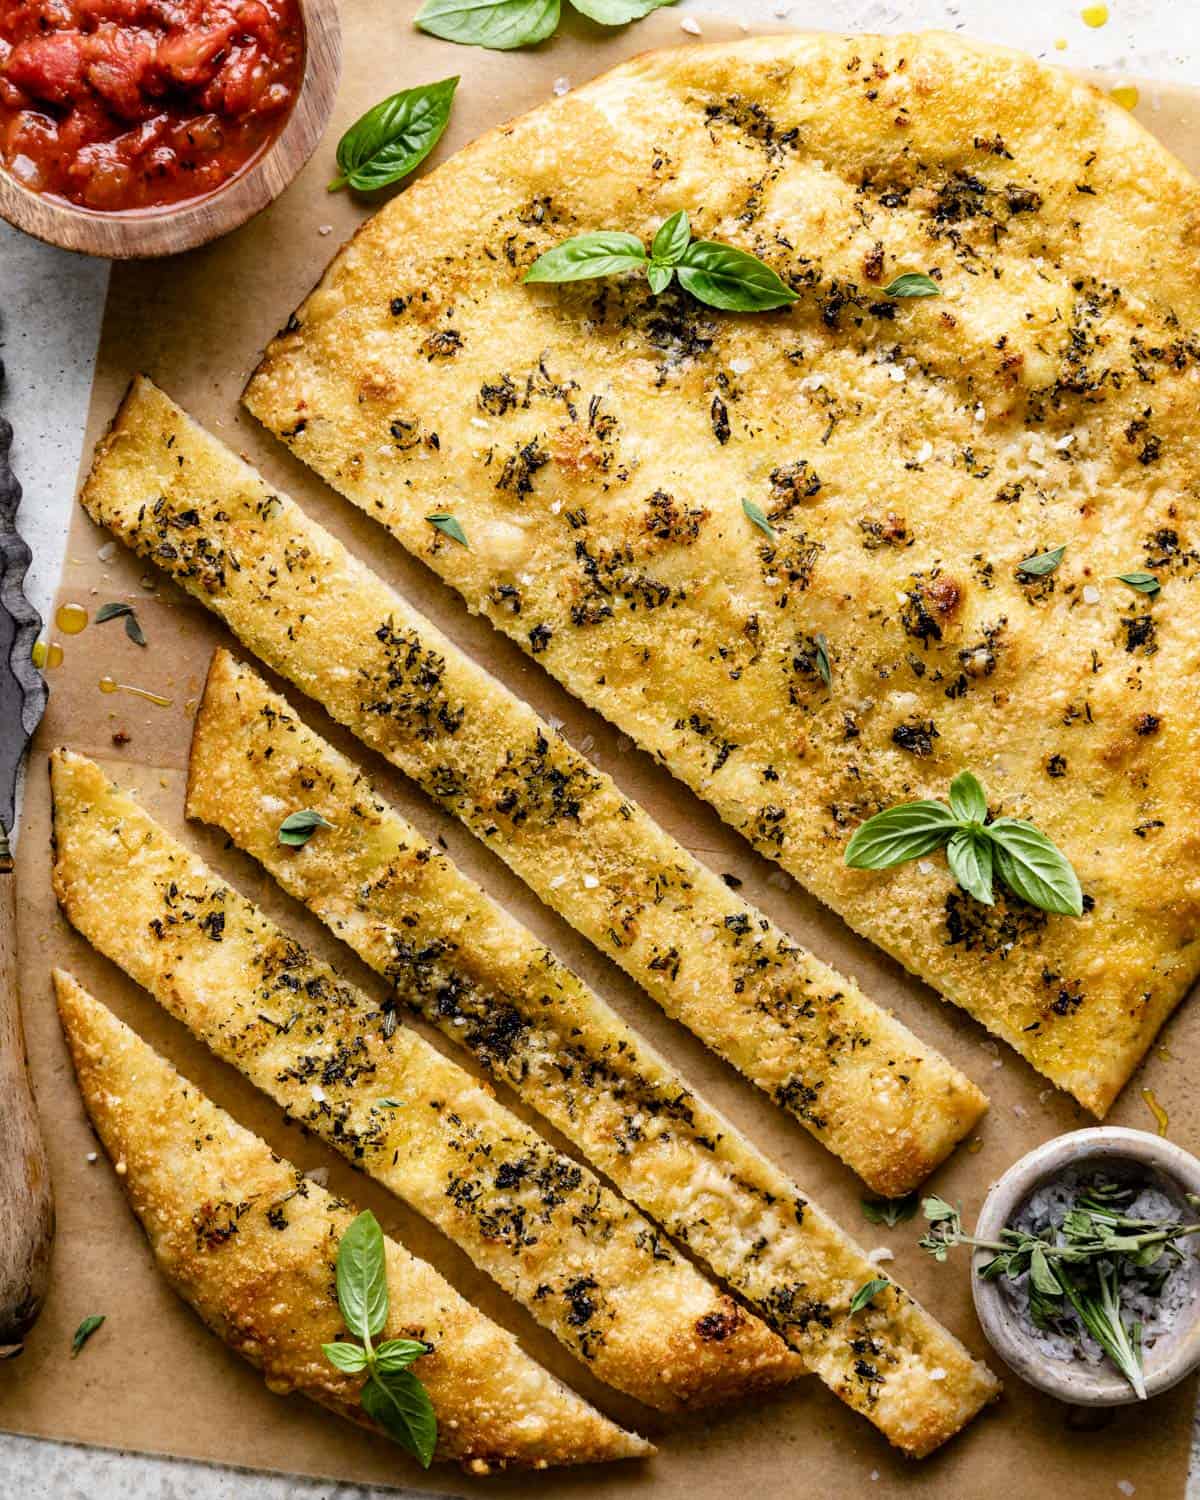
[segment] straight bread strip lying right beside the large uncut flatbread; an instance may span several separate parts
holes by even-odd
[[[874,1191],[909,1191],[980,1118],[986,1100],[957,1068],[728,890],[148,381],[82,501]]]

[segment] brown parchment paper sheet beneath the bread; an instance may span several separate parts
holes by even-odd
[[[458,48],[416,33],[416,3],[346,0],[345,68],[338,110],[315,159],[292,188],[237,234],[166,262],[114,270],[96,372],[86,452],[112,416],[134,370],[146,370],[225,441],[243,452],[332,528],[346,544],[414,600],[477,660],[561,720],[572,741],[610,771],[696,855],[746,882],[746,894],[824,958],[855,975],[876,1000],[892,1006],[922,1038],[952,1058],[990,1095],[992,1110],[976,1142],[962,1148],[932,1186],[960,1202],[968,1218],[987,1185],[1022,1152],[1062,1131],[1092,1124],[1065,1095],[1050,1089],[1014,1053],[990,1041],[962,1011],[903,974],[882,952],[855,938],[828,910],[789,886],[774,866],[754,855],[702,802],[616,730],[573,702],[550,678],[424,567],[408,558],[381,528],[342,502],[320,480],[238,411],[237,398],[260,350],[309,291],[338,244],[370,212],[348,194],[330,195],[333,144],[346,124],[381,96],[416,82],[460,74],[453,118],[429,165],[489,126],[537,105],[555,80],[578,84],[656,45],[690,45],[670,10],[620,32],[582,21],[564,22],[552,44],[518,54]],[[741,34],[730,22],[704,21],[705,40]],[[1143,88],[1143,118],[1194,170],[1200,166],[1197,94],[1166,86]],[[171,585],[147,574],[129,554],[108,546],[76,508],[60,600],[96,608],[106,600],[136,604],[148,645],[132,644],[122,621],[80,636],[52,632],[64,662],[50,674],[50,710],[33,750],[20,843],[20,957],[24,1017],[58,1203],[54,1281],[46,1310],[26,1356],[0,1365],[0,1428],[111,1448],[206,1458],[346,1480],[394,1484],[428,1494],[534,1494],[546,1500],[640,1496],[645,1500],[726,1500],[730,1492],[762,1496],[927,1496],[969,1500],[1036,1486],[1056,1500],[1112,1494],[1119,1480],[1140,1496],[1182,1497],[1185,1490],[1194,1382],[1149,1407],[1110,1413],[1072,1412],[1038,1396],[1016,1377],[1002,1401],[922,1464],[908,1462],[879,1434],[849,1413],[814,1378],[758,1404],[666,1419],[600,1386],[532,1318],[506,1298],[438,1232],[387,1192],[356,1174],[321,1143],[286,1125],[279,1110],[158,1005],[93,954],[57,914],[50,886],[46,752],[69,744],[99,758],[150,810],[196,846],[238,890],[260,902],[302,940],[351,978],[380,993],[380,982],[350,952],[285,897],[256,866],[224,848],[213,830],[186,825],[183,780],[190,718],[214,645],[232,638],[213,616]],[[330,640],[330,651],[338,642]],[[150,688],[171,699],[159,708],[128,693],[102,694],[99,678]],[[864,1221],[861,1188],[800,1125],[669,1022],[612,963],[572,933],[458,824],[426,802],[381,760],[290,690],[300,712],[321,734],[366,765],[402,812],[426,834],[441,834],[452,856],[574,966],[596,988],[663,1048],[716,1106],[728,1112],[802,1190],[825,1204],[867,1246],[888,1245],[885,1269],[975,1353],[999,1360],[984,1346],[969,1294],[966,1256],[936,1266],[916,1248],[920,1222],[896,1230]],[[116,744],[128,735],[128,742]],[[774,876],[772,876],[774,872]],[[120,891],[112,892],[120,902]],[[136,921],[138,914],[129,912]],[[328,1182],[372,1208],[384,1227],[432,1260],[468,1298],[502,1324],[549,1368],[612,1416],[662,1443],[642,1464],[608,1468],[465,1479],[440,1466],[423,1474],[399,1449],[372,1438],[300,1396],[270,1395],[258,1374],[225,1350],[165,1287],[153,1268],[111,1168],[88,1162],[96,1150],[54,1014],[50,969],[60,963],[126,1018],[154,1047],[238,1120],[262,1134],[304,1168],[324,1167]],[[441,1047],[447,1044],[434,1036]],[[1143,1088],[1170,1118],[1168,1134],[1200,1146],[1200,1112],[1188,1094],[1188,1068],[1200,1059],[1200,1011],[1186,1005],[1167,1026],[1144,1066],[1126,1088],[1112,1120],[1154,1128]],[[460,1059],[462,1060],[462,1059]],[[512,1098],[518,1113],[526,1114]],[[543,1130],[546,1126],[543,1125]],[[552,1134],[552,1132],[550,1132]],[[76,1360],[70,1334],[90,1312],[108,1322]],[[1131,1492],[1131,1491],[1126,1491]]]

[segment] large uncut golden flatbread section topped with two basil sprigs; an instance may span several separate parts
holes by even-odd
[[[687,208],[792,309],[522,286]],[[960,38],[636,58],[393,198],[248,405],[846,921],[1102,1114],[1200,968],[1200,192]],[[938,279],[903,300],[898,273]],[[742,502],[768,518],[768,537]],[[453,514],[459,546],[426,519]],[[1065,544],[1056,572],[1020,564]],[[1114,574],[1150,572],[1152,598]],[[831,686],[818,640],[828,642]],[[843,867],[972,770],[1083,918]]]

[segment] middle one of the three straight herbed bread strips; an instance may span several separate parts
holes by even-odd
[[[290,849],[279,824],[300,807],[333,826]],[[850,1316],[878,1275],[858,1245],[228,651],[195,720],[188,812],[510,1083],[900,1448],[930,1452],[996,1392],[898,1287]],[[878,1380],[858,1371],[864,1335]]]

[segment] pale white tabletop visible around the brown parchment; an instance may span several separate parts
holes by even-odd
[[[350,6],[352,0],[345,3]],[[1070,68],[1102,68],[1116,75],[1200,86],[1197,0],[1110,0],[1110,21],[1100,28],[1084,26],[1080,9],[1078,0],[794,0],[790,4],[682,0],[680,4],[681,12],[708,10],[750,22],[782,20],[810,28],[969,32]],[[1062,51],[1054,46],[1059,39],[1066,40]],[[0,225],[4,320],[0,356],[9,370],[0,410],[16,429],[14,462],[26,488],[21,526],[36,558],[30,597],[42,614],[62,568],[105,285],[106,272],[99,262],[50,250]],[[1113,1494],[1122,1492],[1119,1479],[1113,1474]],[[536,1480],[531,1490],[534,1485]],[[0,1496],[21,1500],[369,1500],[376,1494],[394,1491],[264,1479],[202,1464],[100,1454],[0,1434]],[[1200,1500],[1197,1449],[1188,1497]]]

